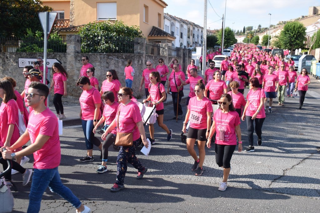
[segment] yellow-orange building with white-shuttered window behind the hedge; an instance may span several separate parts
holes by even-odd
[[[152,27],[163,29],[163,0],[42,0],[58,12],[55,27],[72,27],[100,20],[122,20],[139,26],[148,38]]]

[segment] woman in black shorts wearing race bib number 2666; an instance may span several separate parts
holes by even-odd
[[[203,80],[198,80],[195,86],[196,96],[190,98],[188,111],[183,122],[182,132],[186,133],[187,123],[190,121],[190,127],[187,136],[187,149],[189,154],[195,160],[191,167],[191,171],[195,171],[195,175],[200,176],[203,173],[203,163],[205,156],[206,138],[209,136],[211,125],[212,104],[208,98],[204,97]],[[196,139],[198,140],[199,157],[194,149]]]

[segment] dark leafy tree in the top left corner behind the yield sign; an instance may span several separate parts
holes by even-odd
[[[27,35],[27,29],[33,33],[42,31],[38,12],[52,11],[43,6],[40,0],[1,0],[0,1],[0,36]]]

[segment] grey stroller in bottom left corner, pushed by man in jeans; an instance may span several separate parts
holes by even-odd
[[[0,158],[2,160],[2,157]],[[11,172],[11,160],[7,160],[8,168],[0,174],[0,213],[11,212],[13,209],[13,195],[10,188],[4,179],[4,175],[7,172]]]

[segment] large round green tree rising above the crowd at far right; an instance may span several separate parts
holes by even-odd
[[[279,35],[279,42],[282,49],[299,49],[305,45],[306,27],[298,21],[287,22]]]

